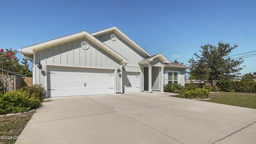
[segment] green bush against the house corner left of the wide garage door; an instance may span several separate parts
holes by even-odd
[[[44,99],[45,87],[43,87],[42,84],[34,84],[30,87],[25,86],[22,87],[21,90],[28,93],[30,97],[36,97],[40,99],[40,101]]]

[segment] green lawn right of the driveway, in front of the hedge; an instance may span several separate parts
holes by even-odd
[[[210,100],[201,100],[238,107],[256,108],[256,93],[219,92],[210,93]]]

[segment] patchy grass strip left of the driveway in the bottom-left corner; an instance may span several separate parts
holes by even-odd
[[[34,112],[0,117],[0,136],[19,136]],[[0,139],[0,144],[14,144],[15,139]]]

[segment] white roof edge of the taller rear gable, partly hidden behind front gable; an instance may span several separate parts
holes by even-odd
[[[127,43],[129,43],[132,47],[134,47],[135,49],[140,51],[140,53],[142,53],[146,57],[150,57],[151,56],[150,53],[148,53],[145,49],[140,47],[140,45],[135,43],[132,39],[130,39],[130,37],[126,36],[126,34],[124,34],[121,30],[116,28],[116,26],[113,26],[111,28],[106,28],[106,29],[100,30],[98,32],[91,33],[91,35],[94,36],[94,37],[98,37],[98,36],[102,36],[104,34],[107,34],[109,32],[116,33],[118,36],[120,36],[122,39],[124,39]]]

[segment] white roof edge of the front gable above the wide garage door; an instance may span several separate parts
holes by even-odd
[[[70,34],[70,35],[59,37],[59,38],[56,38],[56,39],[51,39],[49,41],[44,41],[44,42],[41,42],[41,43],[37,43],[37,44],[34,44],[34,45],[23,47],[23,48],[19,49],[19,51],[21,53],[24,53],[24,54],[33,54],[33,50],[45,49],[47,47],[52,47],[54,45],[59,45],[61,43],[72,41],[72,40],[78,39],[80,37],[86,37],[88,40],[92,41],[93,43],[98,45],[100,48],[104,49],[106,52],[110,53],[111,55],[113,55],[118,60],[122,61],[123,63],[128,63],[129,62],[122,55],[118,54],[116,51],[114,51],[113,49],[111,49],[110,47],[108,47],[107,45],[105,45],[104,43],[102,43],[101,41],[99,41],[98,39],[96,39],[94,36],[92,36],[91,34],[89,34],[86,31],[78,32],[78,33],[75,33],[75,34]]]

